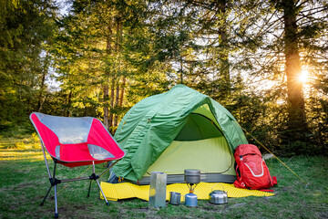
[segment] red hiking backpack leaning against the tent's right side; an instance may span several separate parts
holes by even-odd
[[[276,177],[273,176],[272,179],[261,152],[255,145],[241,144],[236,148],[234,158],[237,174],[237,180],[233,183],[235,187],[257,190],[277,184]]]

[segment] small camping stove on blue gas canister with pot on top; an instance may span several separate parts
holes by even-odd
[[[200,183],[200,171],[199,170],[185,170],[184,180],[187,183],[190,193],[185,196],[185,205],[197,206],[197,195],[194,194],[194,190],[198,183]]]

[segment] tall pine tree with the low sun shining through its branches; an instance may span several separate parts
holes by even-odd
[[[262,38],[255,53],[258,57],[252,55],[256,61],[253,67],[258,69],[252,75],[270,88],[267,89],[270,101],[281,101],[276,116],[272,117],[272,127],[280,131],[283,150],[309,152],[313,146],[309,129],[313,126],[310,119],[313,115],[308,113],[312,106],[306,104],[309,99],[304,95],[306,90],[300,77],[303,68],[319,67],[318,73],[326,68],[320,54],[327,51],[323,44],[327,8],[320,1],[292,0],[271,1],[265,6],[258,5],[263,16],[256,19],[255,25],[260,28],[254,28],[252,33],[254,40]],[[307,82],[307,86],[313,84]]]

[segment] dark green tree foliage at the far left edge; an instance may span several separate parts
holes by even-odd
[[[0,8],[0,126],[7,129],[42,106],[48,71],[43,54],[55,29],[56,5],[5,0]]]

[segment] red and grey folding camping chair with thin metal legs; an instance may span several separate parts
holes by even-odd
[[[38,112],[32,113],[30,115],[30,120],[35,126],[40,137],[41,148],[45,157],[46,170],[50,181],[50,188],[48,189],[46,196],[40,205],[45,203],[47,195],[50,193],[51,188],[54,187],[55,217],[58,217],[56,185],[59,183],[68,183],[81,180],[90,180],[87,197],[90,194],[92,181],[96,181],[101,193],[104,196],[105,202],[108,204],[108,200],[106,199],[97,179],[105,172],[108,172],[109,168],[122,159],[125,152],[119,148],[118,143],[113,139],[101,121],[91,117],[56,117]],[[54,161],[53,175],[51,175],[49,171],[45,149]],[[95,164],[110,161],[116,162],[110,165],[104,172],[96,175]],[[88,177],[58,180],[55,177],[57,163],[67,167],[92,164],[93,173]]]

